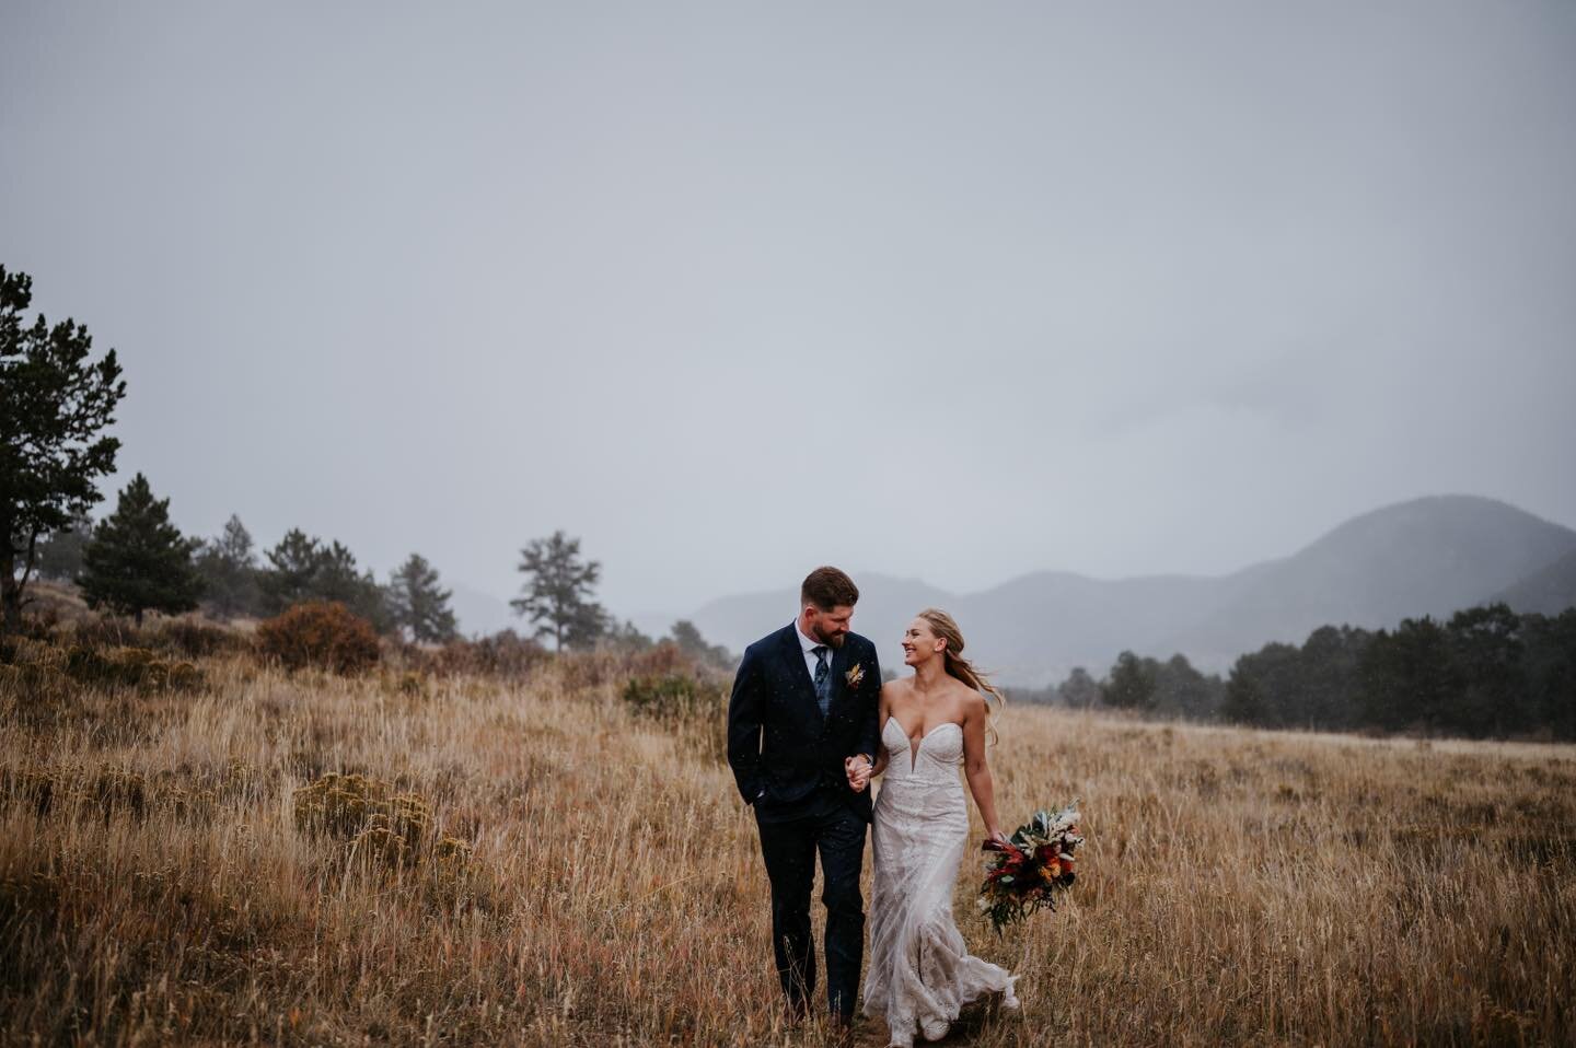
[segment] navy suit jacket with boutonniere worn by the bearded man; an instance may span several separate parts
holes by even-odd
[[[856,668],[859,681],[849,684]],[[745,648],[728,700],[728,764],[739,796],[766,821],[812,815],[827,801],[870,821],[870,790],[848,786],[843,760],[875,760],[879,700],[876,646],[859,634],[845,634],[832,651],[824,719],[793,622]]]

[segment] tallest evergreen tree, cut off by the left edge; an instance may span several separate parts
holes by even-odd
[[[120,441],[104,430],[126,396],[115,350],[88,359],[84,325],[32,326],[33,279],[0,266],[0,635],[22,626],[38,541],[102,500]]]

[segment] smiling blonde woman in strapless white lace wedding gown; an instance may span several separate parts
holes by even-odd
[[[969,851],[969,791],[990,837],[1005,840],[985,764],[985,693],[1001,700],[963,657],[963,635],[946,611],[927,608],[903,634],[903,663],[914,676],[881,689],[883,774],[875,804],[875,884],[865,1015],[886,1018],[890,1045],[914,1032],[939,1040],[958,1010],[1001,993],[1017,1009],[1017,976],[971,957],[952,922],[952,884]]]

